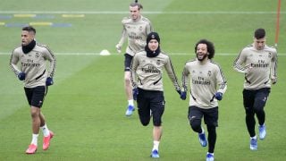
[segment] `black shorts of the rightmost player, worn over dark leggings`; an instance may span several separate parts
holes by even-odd
[[[257,90],[243,89],[243,105],[244,107],[263,108],[266,104],[267,98],[270,93],[270,88],[263,88]]]

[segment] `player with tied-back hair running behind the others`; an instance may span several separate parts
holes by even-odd
[[[130,81],[130,63],[135,53],[144,49],[146,46],[147,34],[153,31],[151,22],[140,14],[143,6],[139,4],[138,1],[131,3],[129,8],[130,17],[125,17],[122,20],[122,38],[116,45],[117,51],[121,53],[122,45],[126,38],[128,38],[128,47],[126,48],[126,53],[124,55],[124,89],[128,99],[128,106],[125,114],[127,116],[130,116],[135,110]]]

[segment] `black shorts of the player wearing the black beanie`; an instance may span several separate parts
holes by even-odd
[[[147,125],[152,115],[153,124],[160,126],[162,123],[162,115],[164,114],[164,104],[163,91],[139,89],[137,105],[141,123]]]

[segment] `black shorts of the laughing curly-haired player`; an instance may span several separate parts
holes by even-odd
[[[199,108],[198,106],[189,106],[189,121],[194,118],[199,119],[201,121],[202,117],[204,117],[204,122],[206,123],[206,125],[217,127],[218,106],[209,109]]]

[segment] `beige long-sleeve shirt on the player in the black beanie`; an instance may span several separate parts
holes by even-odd
[[[163,91],[164,69],[172,80],[174,88],[179,90],[178,79],[168,55],[161,52],[156,57],[147,57],[146,51],[137,53],[131,63],[131,81],[133,87]]]

